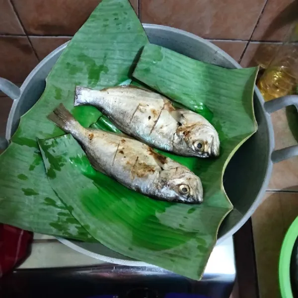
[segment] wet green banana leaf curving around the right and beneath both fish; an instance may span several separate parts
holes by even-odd
[[[149,60],[155,67],[156,58],[160,57],[159,52],[152,53],[155,49],[163,51],[166,59],[174,58],[165,60],[158,72],[152,67],[151,76]],[[53,189],[72,207],[74,217],[95,239],[123,255],[200,279],[216,243],[219,225],[232,209],[223,187],[224,168],[236,148],[257,129],[252,106],[257,69],[226,70],[179,54],[175,60],[176,54],[148,45],[134,74],[155,89],[160,84],[165,89],[158,91],[203,114],[218,129],[222,141],[218,159],[181,157],[159,151],[199,175],[205,191],[203,204],[159,202],[127,189],[95,171],[70,135],[39,140],[39,146]],[[147,55],[148,60],[144,59]],[[173,68],[173,73],[180,73],[179,78],[170,76],[169,72],[177,61],[182,61],[180,72]],[[143,69],[147,72],[146,79],[139,75]],[[181,73],[190,73],[194,80],[183,80]],[[199,79],[196,74],[200,74]],[[163,75],[169,77],[163,79]],[[234,84],[228,84],[230,81]],[[185,88],[181,82],[186,84]],[[172,85],[178,87],[172,93],[167,92],[166,88]],[[92,127],[120,132],[106,116],[100,117]]]

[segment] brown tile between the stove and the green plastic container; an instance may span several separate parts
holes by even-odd
[[[298,216],[298,193],[268,192],[252,216],[260,298],[280,298],[278,261],[290,224]]]

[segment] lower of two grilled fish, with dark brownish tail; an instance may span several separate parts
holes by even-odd
[[[60,104],[49,116],[82,145],[92,166],[126,187],[149,197],[179,203],[201,203],[199,177],[149,146],[123,135],[82,127]]]

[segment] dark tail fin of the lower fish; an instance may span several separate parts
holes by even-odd
[[[70,128],[73,127],[74,124],[78,124],[78,122],[74,119],[74,116],[62,103],[50,115],[48,115],[47,118],[66,133],[70,133]]]

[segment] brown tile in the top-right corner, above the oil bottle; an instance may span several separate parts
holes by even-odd
[[[283,41],[289,25],[297,20],[297,11],[295,0],[268,0],[252,40]]]

